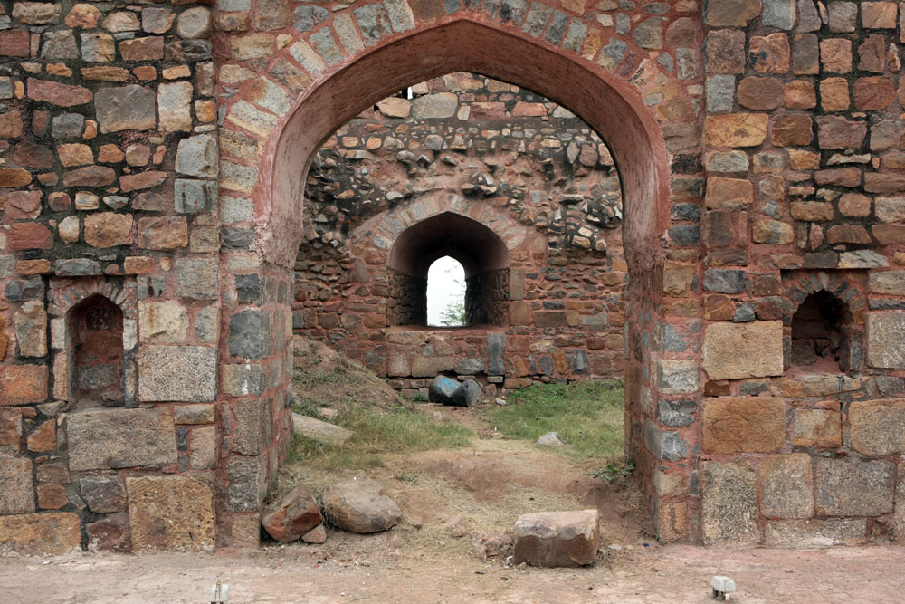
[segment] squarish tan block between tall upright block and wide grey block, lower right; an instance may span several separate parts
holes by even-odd
[[[771,455],[760,462],[760,513],[768,518],[814,515],[811,455]]]

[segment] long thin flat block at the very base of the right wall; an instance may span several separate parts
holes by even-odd
[[[867,521],[863,518],[768,520],[764,527],[767,547],[812,548],[864,542]]]

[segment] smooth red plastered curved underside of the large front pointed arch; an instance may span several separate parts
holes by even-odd
[[[390,36],[315,82],[294,103],[264,151],[255,195],[257,215],[265,221],[259,242],[269,262],[291,265],[300,244],[299,203],[310,162],[338,127],[407,85],[467,71],[536,91],[595,129],[620,171],[630,269],[662,264],[670,163],[657,121],[638,91],[574,53],[473,18],[456,16]]]

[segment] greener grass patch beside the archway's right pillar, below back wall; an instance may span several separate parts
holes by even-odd
[[[576,458],[613,458],[624,452],[623,387],[614,380],[544,384],[519,390],[505,407],[484,417],[505,435],[537,440],[556,432]]]

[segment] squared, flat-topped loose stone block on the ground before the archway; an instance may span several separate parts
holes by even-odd
[[[586,566],[594,563],[599,547],[596,510],[526,513],[515,523],[512,563]]]

